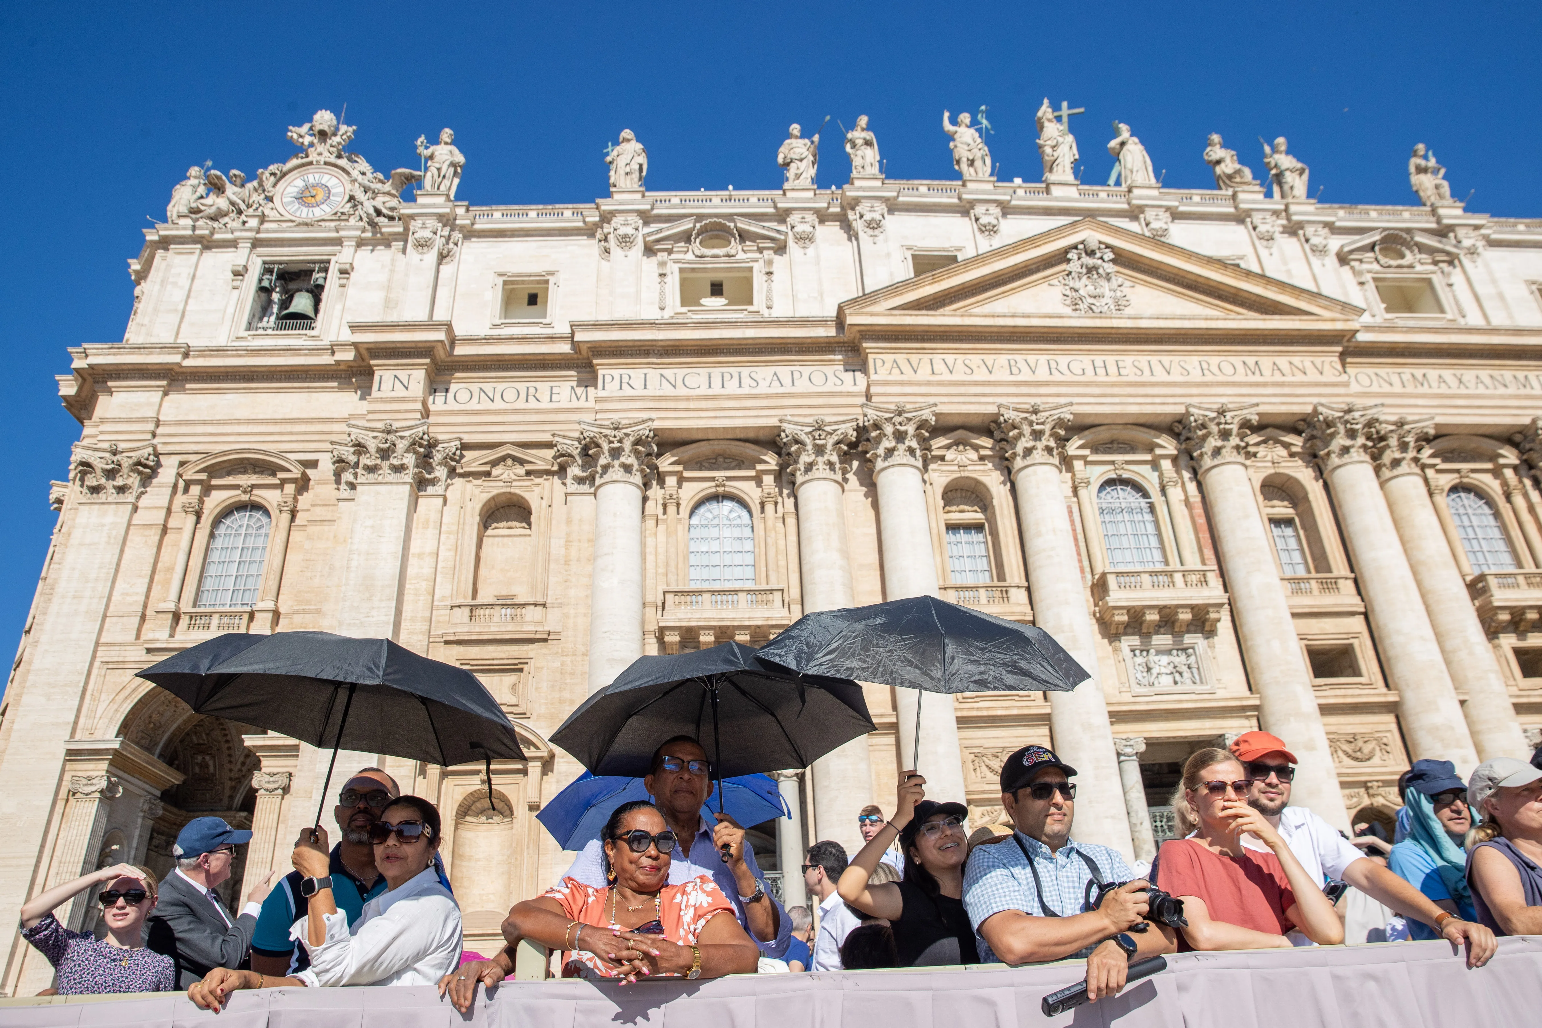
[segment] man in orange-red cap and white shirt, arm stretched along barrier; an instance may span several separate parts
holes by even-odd
[[[1366,858],[1332,825],[1306,809],[1289,806],[1291,781],[1295,778],[1295,755],[1284,741],[1269,732],[1243,732],[1231,746],[1252,781],[1247,805],[1280,829],[1280,837],[1318,883],[1334,879],[1346,882],[1403,917],[1414,917],[1436,928],[1457,949],[1466,945],[1466,966],[1480,968],[1494,956],[1499,943],[1494,932],[1442,911],[1408,882]],[[1249,845],[1244,840],[1243,845]],[[1258,848],[1258,846],[1252,846]],[[1303,945],[1292,932],[1292,942]]]

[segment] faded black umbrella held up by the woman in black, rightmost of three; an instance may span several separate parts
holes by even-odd
[[[1066,692],[1089,675],[1050,633],[936,596],[805,613],[760,660],[924,692]],[[921,755],[921,698],[916,698]]]

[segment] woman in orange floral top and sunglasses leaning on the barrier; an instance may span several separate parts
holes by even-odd
[[[751,974],[760,951],[708,875],[666,885],[674,832],[652,803],[623,803],[600,835],[609,886],[563,879],[517,903],[503,922],[506,952],[523,937],[563,949],[563,977],[635,982]]]

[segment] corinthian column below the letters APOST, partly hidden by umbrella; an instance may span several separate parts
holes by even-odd
[[[797,504],[797,559],[805,613],[836,610],[856,603],[851,596],[845,512],[847,452],[856,442],[856,418],[845,421],[816,418],[783,419],[782,435],[777,436]],[[814,835],[833,838],[845,846],[847,852],[856,852],[853,846],[860,848],[862,838],[857,832],[857,812],[873,801],[873,764],[868,758],[867,737],[860,735],[816,760],[813,786]],[[783,826],[783,831],[802,834],[797,825],[791,829]],[[797,860],[799,863],[803,860],[802,846]],[[797,886],[802,888],[802,883]],[[782,888],[791,888],[786,885],[786,877]]]

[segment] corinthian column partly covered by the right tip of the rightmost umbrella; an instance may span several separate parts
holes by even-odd
[[[1027,410],[1001,404],[996,410],[1001,418],[992,432],[1012,465],[1018,493],[1033,623],[1092,675],[1070,692],[1049,694],[1055,752],[1078,772],[1072,834],[1084,843],[1113,846],[1132,858],[1135,846],[1113,755],[1113,727],[1098,678],[1098,635],[1061,485],[1061,439],[1070,422],[1070,404],[1033,404]]]

